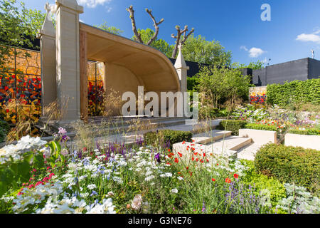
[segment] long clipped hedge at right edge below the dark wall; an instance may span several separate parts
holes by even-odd
[[[295,80],[284,85],[267,86],[267,103],[287,106],[292,103],[320,105],[320,78],[306,81]]]

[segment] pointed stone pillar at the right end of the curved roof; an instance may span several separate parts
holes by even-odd
[[[182,51],[181,51],[181,44],[179,45],[179,53],[178,57],[176,58],[176,63],[174,63],[174,67],[176,68],[176,72],[178,73],[179,81],[180,81],[180,88],[183,94],[183,105],[182,108],[184,110],[184,93],[187,91],[187,71],[189,69],[186,66],[186,61],[184,61]]]

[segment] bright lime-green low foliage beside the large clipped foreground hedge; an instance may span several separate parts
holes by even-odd
[[[243,160],[246,167],[246,175],[242,177],[242,181],[247,185],[255,186],[256,195],[266,197],[267,203],[272,207],[277,206],[280,199],[286,197],[286,190],[284,185],[274,177],[267,177],[255,171],[255,166],[252,161]],[[268,200],[270,199],[270,202]]]

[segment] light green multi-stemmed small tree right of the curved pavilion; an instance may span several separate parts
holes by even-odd
[[[202,93],[202,105],[220,108],[226,104],[232,110],[238,100],[247,98],[250,77],[242,76],[238,69],[204,66],[197,77],[196,89]]]

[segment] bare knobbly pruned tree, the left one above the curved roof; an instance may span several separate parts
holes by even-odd
[[[132,22],[132,31],[134,32],[134,40],[139,42],[139,43],[144,43],[144,41],[142,41],[141,38],[141,34],[139,33],[139,31],[137,30],[137,26],[136,26],[136,21],[134,19],[134,9],[133,6],[129,6],[129,8],[127,8],[127,11],[130,13],[130,19]],[[164,22],[164,19],[161,19],[159,22],[156,22],[156,19],[154,18],[154,16],[152,15],[152,11],[151,9],[146,9],[146,13],[149,14],[149,16],[151,17],[151,20],[154,22],[154,28],[156,29],[156,31],[154,32],[154,36],[152,36],[149,41],[147,41],[146,45],[150,45],[152,42],[154,42],[156,40],[156,36],[158,36],[159,34],[159,24],[161,24],[162,22]]]

